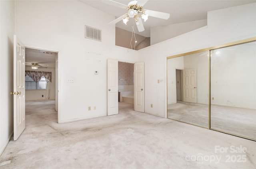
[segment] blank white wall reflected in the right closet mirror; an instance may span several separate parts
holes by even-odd
[[[215,51],[211,54],[211,104],[256,109],[256,42]]]

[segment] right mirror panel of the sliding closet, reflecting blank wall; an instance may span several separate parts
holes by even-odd
[[[211,128],[256,140],[256,42],[210,51]]]

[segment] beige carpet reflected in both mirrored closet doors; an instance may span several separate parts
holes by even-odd
[[[169,104],[168,118],[208,127],[208,105],[188,102]],[[256,110],[212,105],[211,128],[256,140]]]

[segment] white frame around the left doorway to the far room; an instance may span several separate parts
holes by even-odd
[[[58,77],[57,77],[57,88],[58,88],[58,120],[57,122],[60,123],[60,115],[61,115],[61,109],[60,109],[60,51],[59,50],[56,50],[56,49],[47,49],[47,48],[44,48],[44,47],[34,47],[34,46],[30,46],[30,45],[26,45],[24,44],[26,48],[31,48],[31,49],[38,49],[38,50],[44,50],[44,51],[51,51],[51,52],[56,52],[57,53],[57,58],[58,58]],[[56,64],[56,60],[55,60],[55,64]],[[56,77],[55,77],[56,78]],[[55,87],[55,90],[56,90],[56,87]],[[56,98],[56,96],[55,96]]]

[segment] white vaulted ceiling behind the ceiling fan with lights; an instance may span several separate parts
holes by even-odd
[[[126,9],[111,6],[109,4],[103,3],[102,0],[80,1],[116,17],[127,13]],[[130,0],[114,1],[125,5],[130,2]],[[256,0],[148,0],[148,2],[146,2],[146,4],[143,6],[143,9],[166,12],[170,14],[170,18],[168,20],[163,20],[149,17],[146,22],[143,22],[145,31],[139,33],[136,28],[136,33],[145,37],[150,37],[150,28],[152,27],[190,22],[195,20],[204,20],[207,19],[208,11],[249,4],[253,2],[256,2]],[[111,21],[112,20],[109,22]],[[122,21],[116,24],[116,27],[128,31],[132,31],[132,26],[136,27],[134,20],[130,20],[127,25],[125,25]]]

